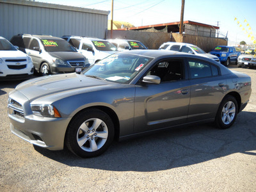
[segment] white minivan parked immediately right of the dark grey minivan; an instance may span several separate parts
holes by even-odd
[[[62,36],[68,43],[76,47],[77,51],[88,58],[90,65],[117,52],[115,45],[100,38],[84,36]]]

